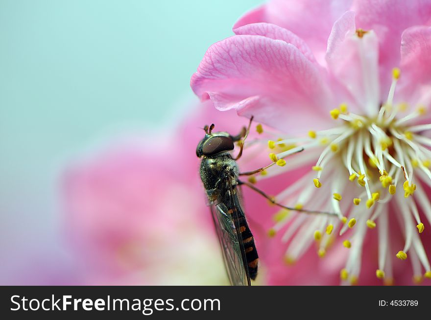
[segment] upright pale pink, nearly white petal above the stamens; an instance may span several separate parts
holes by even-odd
[[[354,97],[354,112],[375,114],[381,100],[378,40],[372,31],[359,38],[355,30],[355,16],[348,11],[334,23],[326,60],[331,74]]]

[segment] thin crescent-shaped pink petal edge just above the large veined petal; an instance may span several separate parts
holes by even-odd
[[[311,62],[316,62],[310,47],[304,42],[304,40],[278,25],[271,23],[251,23],[235,28],[233,31],[235,34],[249,34],[265,36],[274,40],[283,40],[288,44],[296,46]]]

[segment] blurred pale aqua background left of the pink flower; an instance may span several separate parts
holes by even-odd
[[[65,162],[172,119],[208,46],[261,2],[0,0],[0,284],[28,267],[23,256],[66,254]]]

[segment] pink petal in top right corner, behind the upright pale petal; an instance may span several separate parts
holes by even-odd
[[[391,69],[400,63],[401,34],[410,26],[431,23],[431,1],[356,0],[352,10],[357,27],[372,29],[379,38],[381,92],[387,95]]]

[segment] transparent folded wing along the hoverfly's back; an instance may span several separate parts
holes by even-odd
[[[245,251],[237,223],[238,211],[235,208],[230,211],[231,213],[229,213],[224,203],[211,206],[214,225],[216,226],[216,233],[220,241],[229,281],[234,286],[247,286],[250,285],[250,276],[246,266]]]

